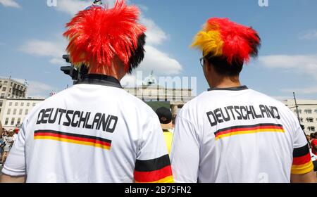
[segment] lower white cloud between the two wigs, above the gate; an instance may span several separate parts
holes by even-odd
[[[182,65],[175,59],[170,58],[168,54],[150,45],[145,46],[144,49],[147,52],[139,70],[154,70],[156,75],[177,75],[182,70]]]

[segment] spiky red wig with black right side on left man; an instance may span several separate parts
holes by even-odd
[[[113,8],[92,6],[66,25],[67,51],[74,65],[111,66],[118,57],[131,72],[144,58],[146,27],[137,23],[139,9],[117,0]]]

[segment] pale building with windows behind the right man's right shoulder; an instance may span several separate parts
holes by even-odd
[[[294,99],[283,101],[285,106],[290,108],[297,116],[297,109]],[[317,132],[317,101],[316,100],[297,100],[299,119],[305,127],[306,134]]]

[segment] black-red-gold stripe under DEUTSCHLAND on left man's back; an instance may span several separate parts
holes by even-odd
[[[87,136],[81,134],[70,134],[66,132],[57,132],[51,130],[38,130],[34,132],[35,140],[54,140],[63,141],[72,144],[81,144],[85,146],[94,146],[110,150],[111,140],[99,138],[97,136]]]

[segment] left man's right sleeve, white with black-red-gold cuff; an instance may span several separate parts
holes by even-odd
[[[135,182],[171,183],[173,174],[159,118],[144,125],[135,163]]]

